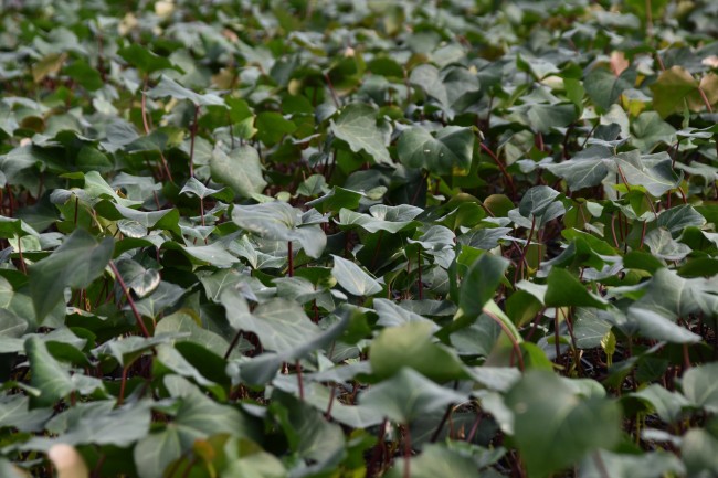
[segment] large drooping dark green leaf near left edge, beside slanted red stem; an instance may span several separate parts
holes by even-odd
[[[30,295],[39,320],[64,301],[65,287],[84,288],[99,277],[113,256],[114,241],[97,242],[88,232],[76,230],[49,257],[29,267]]]

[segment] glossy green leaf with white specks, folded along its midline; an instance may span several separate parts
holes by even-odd
[[[466,176],[472,167],[474,132],[471,128],[451,126],[439,130],[434,138],[424,128],[413,127],[402,132],[397,152],[410,168],[434,174]]]

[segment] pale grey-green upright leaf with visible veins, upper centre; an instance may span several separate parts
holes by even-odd
[[[361,103],[347,105],[336,121],[331,120],[331,132],[346,141],[353,152],[365,151],[379,164],[391,164],[387,150],[387,135],[377,127],[377,113]]]

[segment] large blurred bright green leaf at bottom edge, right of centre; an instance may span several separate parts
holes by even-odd
[[[581,397],[552,372],[527,372],[506,395],[506,404],[515,414],[514,439],[532,477],[548,477],[621,438],[615,402]]]

